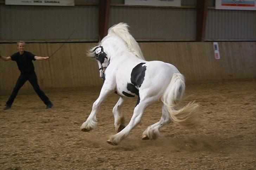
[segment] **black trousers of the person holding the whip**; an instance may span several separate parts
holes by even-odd
[[[15,84],[15,87],[12,91],[12,94],[11,96],[9,97],[8,101],[6,102],[6,105],[8,106],[12,106],[12,103],[15,99],[15,97],[17,96],[20,88],[24,85],[24,83],[26,81],[29,81],[30,84],[33,86],[34,90],[36,91],[37,95],[40,97],[40,99],[46,104],[50,104],[50,100],[49,98],[44,94],[44,92],[40,89],[39,85],[38,85],[38,82],[37,82],[37,75],[36,73],[33,71],[33,72],[30,72],[30,73],[26,73],[26,74],[20,74],[16,84]]]

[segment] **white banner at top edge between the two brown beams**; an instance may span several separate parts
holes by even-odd
[[[124,0],[124,5],[181,6],[181,0]]]

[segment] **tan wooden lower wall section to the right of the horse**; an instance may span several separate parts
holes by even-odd
[[[256,42],[219,42],[216,60],[212,42],[139,43],[147,61],[176,66],[186,81],[223,81],[256,77]]]

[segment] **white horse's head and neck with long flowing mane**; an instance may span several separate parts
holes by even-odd
[[[100,77],[105,80],[105,70],[109,65],[110,56],[111,61],[116,61],[117,56],[120,58],[128,53],[145,60],[138,43],[129,33],[128,25],[119,23],[110,27],[108,35],[98,43],[98,46],[91,48],[87,55],[97,60]]]

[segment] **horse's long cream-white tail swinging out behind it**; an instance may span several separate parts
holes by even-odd
[[[165,104],[174,123],[187,128],[195,128],[199,120],[198,104],[190,102],[179,110],[175,109],[182,100],[184,93],[185,79],[182,74],[175,73],[162,96],[162,102]]]

